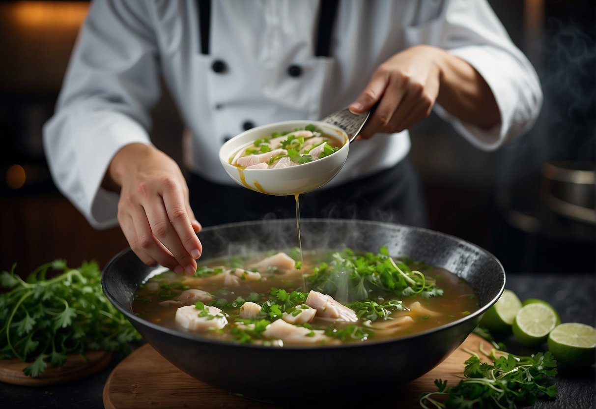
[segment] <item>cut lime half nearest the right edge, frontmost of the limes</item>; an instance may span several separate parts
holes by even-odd
[[[596,353],[596,329],[579,323],[560,324],[548,335],[548,349],[558,362],[589,366]]]

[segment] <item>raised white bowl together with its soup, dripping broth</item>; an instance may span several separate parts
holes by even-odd
[[[276,122],[226,142],[219,161],[234,181],[275,196],[306,193],[337,175],[349,151],[347,134],[330,123]]]

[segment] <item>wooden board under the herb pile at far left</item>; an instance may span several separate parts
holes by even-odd
[[[0,381],[23,386],[60,385],[101,371],[110,361],[111,352],[88,351],[85,360],[79,354],[70,354],[61,367],[54,368],[48,362],[44,373],[32,378],[23,373],[31,362],[0,360]]]

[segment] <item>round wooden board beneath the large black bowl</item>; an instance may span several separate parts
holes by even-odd
[[[462,348],[478,351],[480,343],[485,351],[491,350],[489,343],[476,334],[471,334],[460,348],[439,366],[403,386],[396,396],[398,407],[420,408],[418,396],[423,392],[436,391],[435,379],[447,380],[448,385],[460,382],[464,372],[464,361],[470,357]],[[105,382],[103,401],[106,409],[278,407],[231,395],[194,379],[170,364],[148,344],[136,349],[114,368]],[[396,407],[396,404],[392,406]]]

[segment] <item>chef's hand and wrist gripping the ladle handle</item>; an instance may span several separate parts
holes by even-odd
[[[483,128],[501,120],[482,76],[461,58],[429,45],[405,49],[381,64],[350,110],[361,113],[377,102],[359,138],[411,128],[429,116],[435,102],[464,122]]]

